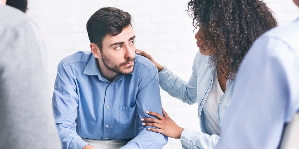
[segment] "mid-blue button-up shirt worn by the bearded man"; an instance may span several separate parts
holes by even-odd
[[[63,148],[83,148],[82,138],[134,138],[123,148],[162,148],[168,138],[141,125],[150,117],[145,111],[162,114],[155,65],[136,55],[134,71],[109,82],[96,61],[91,52],[77,52],[58,65],[52,103]]]

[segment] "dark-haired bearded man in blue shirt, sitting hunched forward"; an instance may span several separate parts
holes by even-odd
[[[101,8],[86,28],[91,52],[58,65],[53,107],[63,148],[162,148],[168,137],[141,125],[146,110],[162,114],[162,106],[156,66],[135,55],[131,15]]]

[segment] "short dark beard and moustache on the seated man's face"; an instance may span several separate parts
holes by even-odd
[[[110,59],[110,58],[108,58],[106,55],[104,55],[103,53],[101,53],[101,57],[102,57],[102,61],[103,61],[103,63],[104,63],[104,65],[109,69],[109,70],[111,70],[112,72],[116,72],[116,73],[118,73],[118,74],[122,74],[122,75],[128,75],[128,74],[130,74],[130,73],[132,73],[133,72],[133,70],[131,71],[131,72],[122,72],[121,70],[120,70],[120,67],[121,66],[123,66],[123,65],[126,65],[127,63],[129,63],[129,62],[135,62],[135,58],[128,58],[127,60],[126,60],[126,62],[124,62],[124,63],[121,63],[121,64],[119,64],[119,66],[117,66],[115,63],[113,63],[112,62],[112,60]],[[131,68],[131,67],[133,67],[134,65],[131,65],[131,66],[129,66],[129,67],[126,67],[127,69],[129,69],[129,68]]]

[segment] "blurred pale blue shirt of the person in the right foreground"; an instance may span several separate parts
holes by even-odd
[[[278,148],[299,111],[299,19],[254,42],[236,78],[217,148]]]

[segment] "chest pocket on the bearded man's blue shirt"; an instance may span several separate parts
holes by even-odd
[[[134,107],[119,106],[119,129],[132,129],[136,124],[136,105]]]

